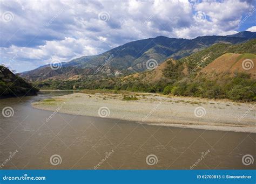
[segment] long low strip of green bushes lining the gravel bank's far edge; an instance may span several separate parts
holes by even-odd
[[[72,89],[74,81],[45,81],[44,83],[47,83],[47,86],[51,89]],[[197,77],[196,79],[186,78],[183,80],[173,80],[170,83],[159,82],[155,86],[151,86],[147,82],[137,82],[136,79],[122,81],[114,78],[100,81],[76,81],[76,83],[79,89],[102,89],[103,93],[118,93],[117,91],[119,90],[128,90],[134,92],[163,93],[165,95],[229,98],[233,101],[250,102],[256,100],[255,80],[250,79],[250,75],[245,73],[238,73],[235,77],[227,75],[215,80],[207,79],[204,76]],[[87,92],[95,93],[92,91]],[[130,97],[125,97],[124,100],[126,99],[133,100]]]

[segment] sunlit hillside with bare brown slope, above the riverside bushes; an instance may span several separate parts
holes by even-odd
[[[255,80],[255,67],[248,70],[242,68],[242,61],[245,59],[255,63],[255,45],[256,39],[237,45],[214,44],[179,60],[167,59],[152,71],[106,81],[111,81],[113,88],[156,92],[163,91],[166,86],[181,81],[199,80],[202,76],[208,80],[215,80],[217,74],[221,80],[221,77],[233,77],[235,73],[247,73],[250,75],[249,78]],[[106,81],[100,81],[104,87],[106,87]],[[90,85],[87,84],[87,86]],[[100,84],[97,87],[101,88]]]

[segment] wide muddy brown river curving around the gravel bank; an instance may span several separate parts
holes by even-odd
[[[255,169],[255,162],[242,159],[255,158],[255,133],[143,125],[31,107],[70,93],[0,100],[1,111],[13,109],[10,117],[0,114],[1,169]]]

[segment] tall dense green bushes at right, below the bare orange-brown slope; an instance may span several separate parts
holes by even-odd
[[[171,92],[170,92],[171,91]],[[196,96],[203,98],[229,98],[234,101],[254,101],[256,83],[248,74],[225,77],[223,80],[208,80],[200,77],[197,80],[176,82],[165,90],[165,94]]]

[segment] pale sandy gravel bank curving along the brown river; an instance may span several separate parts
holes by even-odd
[[[136,95],[138,100],[124,101],[122,94],[76,93],[34,102],[32,106],[72,115],[152,125],[256,133],[255,103],[144,93]]]

